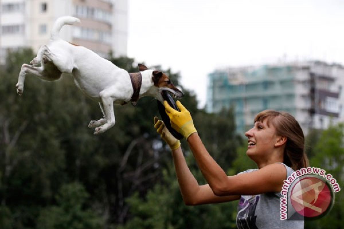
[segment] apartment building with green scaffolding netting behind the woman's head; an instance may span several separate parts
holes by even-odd
[[[207,111],[233,107],[245,133],[266,109],[287,111],[305,134],[344,121],[344,67],[322,61],[219,69],[208,75]]]

